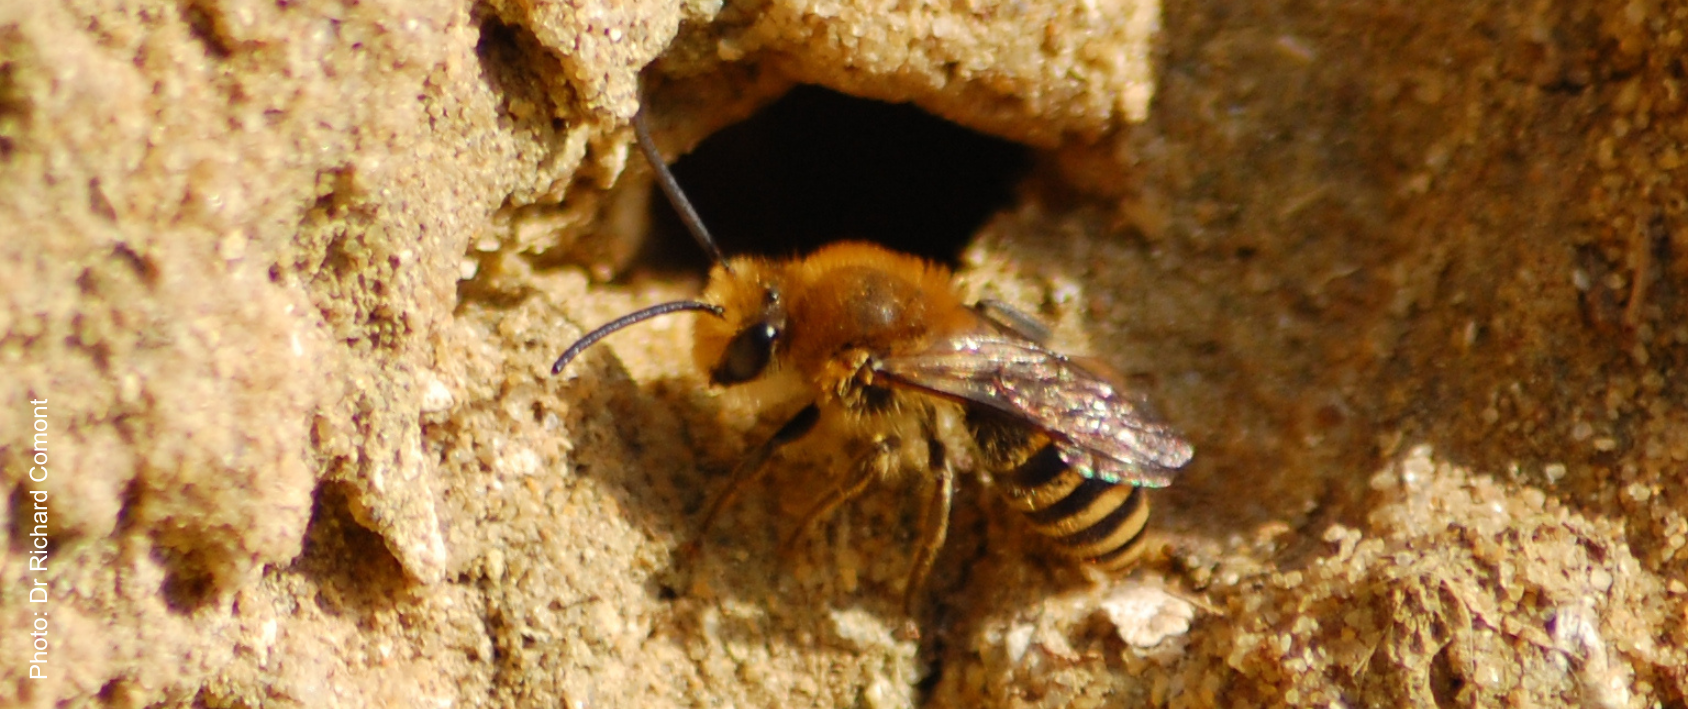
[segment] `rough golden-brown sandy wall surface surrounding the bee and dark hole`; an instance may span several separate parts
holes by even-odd
[[[0,0],[0,706],[1683,707],[1685,32]],[[910,640],[918,476],[778,552],[847,442],[682,554],[788,412],[690,316],[549,373],[701,285],[640,250],[641,83],[670,159],[797,84],[1023,145],[959,282],[1188,434],[1148,560],[1090,579],[969,476]]]

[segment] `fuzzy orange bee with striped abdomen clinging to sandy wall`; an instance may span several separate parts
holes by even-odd
[[[900,469],[925,473],[920,544],[903,587],[917,594],[949,533],[957,463],[972,461],[1067,557],[1119,571],[1143,550],[1144,488],[1173,481],[1192,447],[1144,410],[1107,368],[1048,348],[1048,329],[996,300],[966,304],[949,268],[873,243],[802,258],[726,258],[650,138],[635,137],[682,221],[714,260],[697,300],[647,307],[598,327],[552,373],[604,336],[672,314],[704,312],[692,358],[716,387],[775,382],[797,410],[748,452],[704,513],[716,515],[768,474],[768,459],[817,430],[852,439],[854,456],[787,539]],[[695,544],[695,542],[694,542]]]

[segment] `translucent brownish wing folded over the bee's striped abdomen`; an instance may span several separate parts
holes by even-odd
[[[1089,478],[1160,488],[1190,461],[1190,444],[1143,403],[1077,361],[1030,341],[982,333],[879,361],[876,373],[998,410],[1045,430]]]

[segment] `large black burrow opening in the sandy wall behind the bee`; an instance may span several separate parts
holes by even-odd
[[[787,257],[839,240],[955,263],[1031,165],[1028,149],[912,105],[798,86],[674,164],[726,255]],[[655,187],[653,187],[655,189]],[[640,262],[704,268],[662,194]]]

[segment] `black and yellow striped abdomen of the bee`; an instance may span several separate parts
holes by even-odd
[[[1062,554],[1102,571],[1121,571],[1138,559],[1150,522],[1143,488],[1085,478],[1035,429],[977,410],[967,424],[998,490]]]

